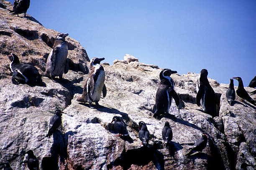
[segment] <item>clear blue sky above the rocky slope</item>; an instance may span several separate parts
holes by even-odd
[[[219,83],[256,75],[256,0],[31,0],[27,13],[110,65],[129,53]]]

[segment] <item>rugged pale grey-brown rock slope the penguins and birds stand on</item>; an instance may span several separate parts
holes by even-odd
[[[11,34],[5,33],[11,36],[0,35],[0,55],[7,57],[5,55],[7,50],[2,53],[2,49],[26,51],[26,46],[41,42],[40,36],[34,40],[26,40],[23,37],[20,40],[22,42],[24,40],[22,46],[12,44],[13,40],[9,38],[16,32],[9,30],[11,25],[8,22],[19,20],[16,24],[20,25],[31,22],[31,27],[33,25],[38,27],[37,31],[47,29],[38,23],[32,23],[34,21],[28,18],[13,16],[13,21],[7,22],[6,18],[9,14],[2,6],[10,8],[10,4],[5,1],[0,1],[0,4],[1,14],[4,13],[4,17],[0,15],[0,24],[2,24],[0,28],[1,30],[8,28],[5,31],[11,32]],[[27,29],[32,30],[31,27]],[[51,38],[45,39],[49,45],[33,48],[39,51],[37,55],[33,51],[27,51],[25,56],[20,53],[22,62],[30,63],[33,57],[36,57],[35,60],[41,61],[42,65],[38,62],[34,63],[35,66],[39,69],[44,68],[43,63],[46,59],[44,55],[41,56],[43,50],[40,47],[50,51],[51,43],[53,44]],[[71,38],[67,40],[77,42]],[[5,48],[2,48],[3,46]],[[79,48],[83,49],[81,46]],[[78,52],[75,54],[74,56],[79,56]],[[28,150],[33,150],[41,170],[235,170],[239,169],[243,162],[251,165],[247,167],[248,170],[256,168],[256,109],[248,102],[241,102],[239,99],[231,107],[225,99],[228,84],[218,84],[217,81],[208,78],[219,103],[219,117],[212,118],[197,110],[202,107],[197,107],[195,104],[199,74],[188,73],[182,76],[172,74],[180,104],[177,107],[173,101],[169,115],[158,120],[153,118],[155,95],[161,72],[158,66],[138,61],[129,63],[116,61],[113,66],[103,65],[106,73],[107,96],[99,101],[102,107],[92,105],[92,108],[89,108],[89,104],[79,103],[76,100],[82,94],[87,74],[69,70],[64,74],[62,81],[53,82],[49,78],[42,77],[46,86],[14,85],[11,83],[8,70],[9,61],[2,56],[0,151],[1,159],[4,162],[9,161],[14,170],[28,170],[26,163],[23,162]],[[76,62],[76,59],[72,58],[74,56],[68,57]],[[79,62],[84,61],[82,64],[86,65],[87,60],[89,61],[84,58]],[[254,90],[249,87],[245,89],[248,92]],[[255,94],[251,97],[256,99]],[[53,136],[45,138],[49,120],[56,109],[61,109],[67,114],[62,114],[62,125]],[[129,135],[133,139],[132,143],[110,132],[110,122],[115,115],[122,117],[127,124]],[[140,121],[146,123],[151,136],[148,148],[142,147],[138,139]],[[169,148],[165,147],[161,139],[166,121],[169,122],[173,132]],[[203,152],[184,156],[203,132],[208,136],[207,146]]]

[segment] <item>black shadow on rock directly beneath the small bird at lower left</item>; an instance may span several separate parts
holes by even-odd
[[[65,164],[67,160],[67,145],[69,135],[73,136],[74,132],[69,131],[63,134],[60,130],[53,132],[53,144],[51,147],[51,157],[43,157],[41,162],[42,170],[59,169],[59,161]]]

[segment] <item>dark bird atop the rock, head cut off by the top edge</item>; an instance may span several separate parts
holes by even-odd
[[[14,0],[13,1],[13,10],[10,11],[12,15],[18,15],[24,13],[24,17],[26,17],[26,12],[29,8],[30,0]]]

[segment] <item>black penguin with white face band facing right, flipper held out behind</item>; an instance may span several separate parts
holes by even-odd
[[[174,82],[170,77],[171,74],[177,73],[171,69],[164,69],[160,72],[160,85],[156,91],[156,111],[153,117],[169,113],[169,109],[174,98],[176,105],[179,105],[179,96],[174,91]]]

